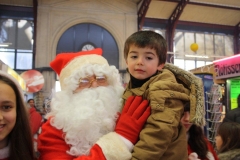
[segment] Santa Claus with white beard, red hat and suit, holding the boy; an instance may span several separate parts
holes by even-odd
[[[118,70],[101,54],[101,49],[61,53],[50,63],[61,91],[42,126],[40,160],[131,158],[150,108],[141,97],[130,97],[115,125],[124,89]]]

